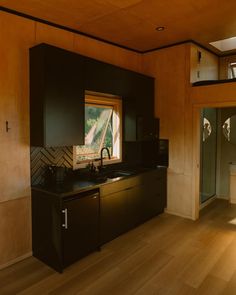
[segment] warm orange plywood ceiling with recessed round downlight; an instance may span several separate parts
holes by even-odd
[[[235,0],[0,0],[0,6],[140,52],[193,40],[221,54],[209,42],[236,36]]]

